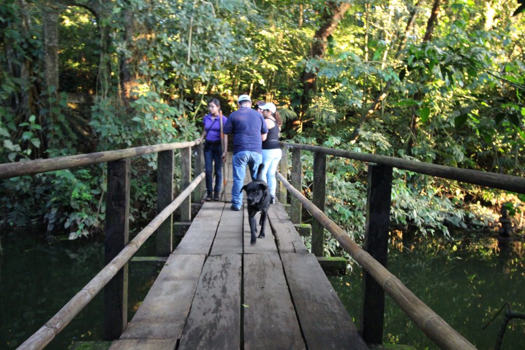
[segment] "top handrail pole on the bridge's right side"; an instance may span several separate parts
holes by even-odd
[[[453,166],[416,162],[403,158],[386,155],[353,152],[346,150],[330,149],[328,147],[303,145],[298,143],[279,142],[282,146],[292,149],[320,152],[356,161],[389,165],[399,169],[405,169],[420,174],[457,180],[469,184],[487,186],[525,194],[525,178],[520,176],[482,172],[472,169],[461,169]]]

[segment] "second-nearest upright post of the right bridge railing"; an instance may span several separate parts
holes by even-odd
[[[323,153],[313,153],[313,194],[312,203],[324,212],[326,195],[327,156]],[[324,256],[324,227],[313,218],[312,220],[312,253],[316,257]]]

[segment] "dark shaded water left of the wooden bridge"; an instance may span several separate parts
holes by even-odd
[[[14,349],[43,326],[103,267],[99,242],[2,239],[0,259],[0,349]],[[130,267],[129,318],[148,293],[152,273]],[[67,325],[46,349],[102,339],[103,292]]]

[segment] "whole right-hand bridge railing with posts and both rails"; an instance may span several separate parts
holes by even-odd
[[[460,169],[450,166],[428,164],[401,158],[330,149],[327,147],[280,142],[283,155],[280,169],[285,175],[277,176],[284,188],[280,189],[280,200],[286,203],[290,192],[290,219],[301,223],[302,206],[313,216],[311,251],[323,256],[324,229],[337,239],[341,247],[363,268],[363,305],[360,333],[367,344],[383,342],[384,293],[386,292],[419,328],[437,345],[445,349],[475,348],[463,336],[450,327],[434,311],[419,300],[403,283],[385,268],[388,248],[388,226],[392,195],[392,168],[397,167],[435,177],[453,179],[470,184],[488,186],[525,194],[525,178],[495,173]],[[291,150],[290,183],[287,181],[287,151]],[[312,201],[304,197],[302,188],[301,150],[313,152]],[[366,226],[364,249],[335,222],[323,214],[327,155],[339,156],[370,163],[368,166]],[[286,169],[283,172],[282,169]]]

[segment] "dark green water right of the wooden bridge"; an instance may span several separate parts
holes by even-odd
[[[525,312],[525,244],[514,242],[499,249],[496,239],[443,242],[426,239],[402,248],[394,239],[388,270],[478,349],[492,349],[503,321],[503,313],[485,330],[482,328],[509,302],[512,310]],[[359,323],[362,272],[330,281],[343,304]],[[359,326],[359,325],[358,325]],[[437,349],[425,334],[386,297],[385,342]],[[525,320],[513,319],[502,349],[525,349]]]

